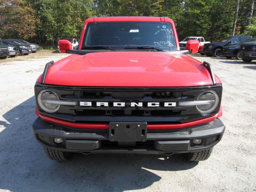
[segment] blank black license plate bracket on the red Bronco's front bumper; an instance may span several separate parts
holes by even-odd
[[[109,141],[147,141],[147,122],[110,122]]]

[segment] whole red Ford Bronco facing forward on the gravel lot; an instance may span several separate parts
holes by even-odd
[[[79,50],[46,64],[35,84],[32,125],[50,159],[74,153],[183,153],[207,159],[224,133],[222,84],[207,62],[180,51],[167,17],[93,17]]]

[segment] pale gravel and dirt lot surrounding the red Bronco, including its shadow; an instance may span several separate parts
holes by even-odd
[[[182,155],[75,155],[51,161],[31,124],[34,84],[45,64],[67,54],[38,51],[0,60],[0,191],[256,191],[256,61],[192,57],[223,83],[222,141],[202,162]]]

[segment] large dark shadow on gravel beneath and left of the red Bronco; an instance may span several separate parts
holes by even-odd
[[[120,155],[75,154],[68,162],[48,159],[37,143],[31,124],[34,97],[3,115],[5,129],[0,132],[0,190],[34,191],[125,191],[144,189],[161,176],[177,182],[175,171],[195,167],[181,154]],[[157,171],[163,171],[161,174]],[[161,175],[161,176],[159,176]]]

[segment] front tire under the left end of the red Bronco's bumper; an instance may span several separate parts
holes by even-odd
[[[67,161],[73,156],[71,152],[58,151],[47,147],[44,147],[44,150],[47,157],[55,161]]]

